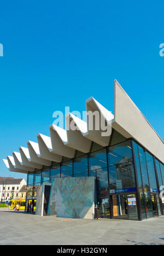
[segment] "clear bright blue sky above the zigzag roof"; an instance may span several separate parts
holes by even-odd
[[[1,1],[0,176],[2,159],[37,133],[52,113],[85,110],[93,96],[113,111],[117,79],[164,139],[163,1]]]

